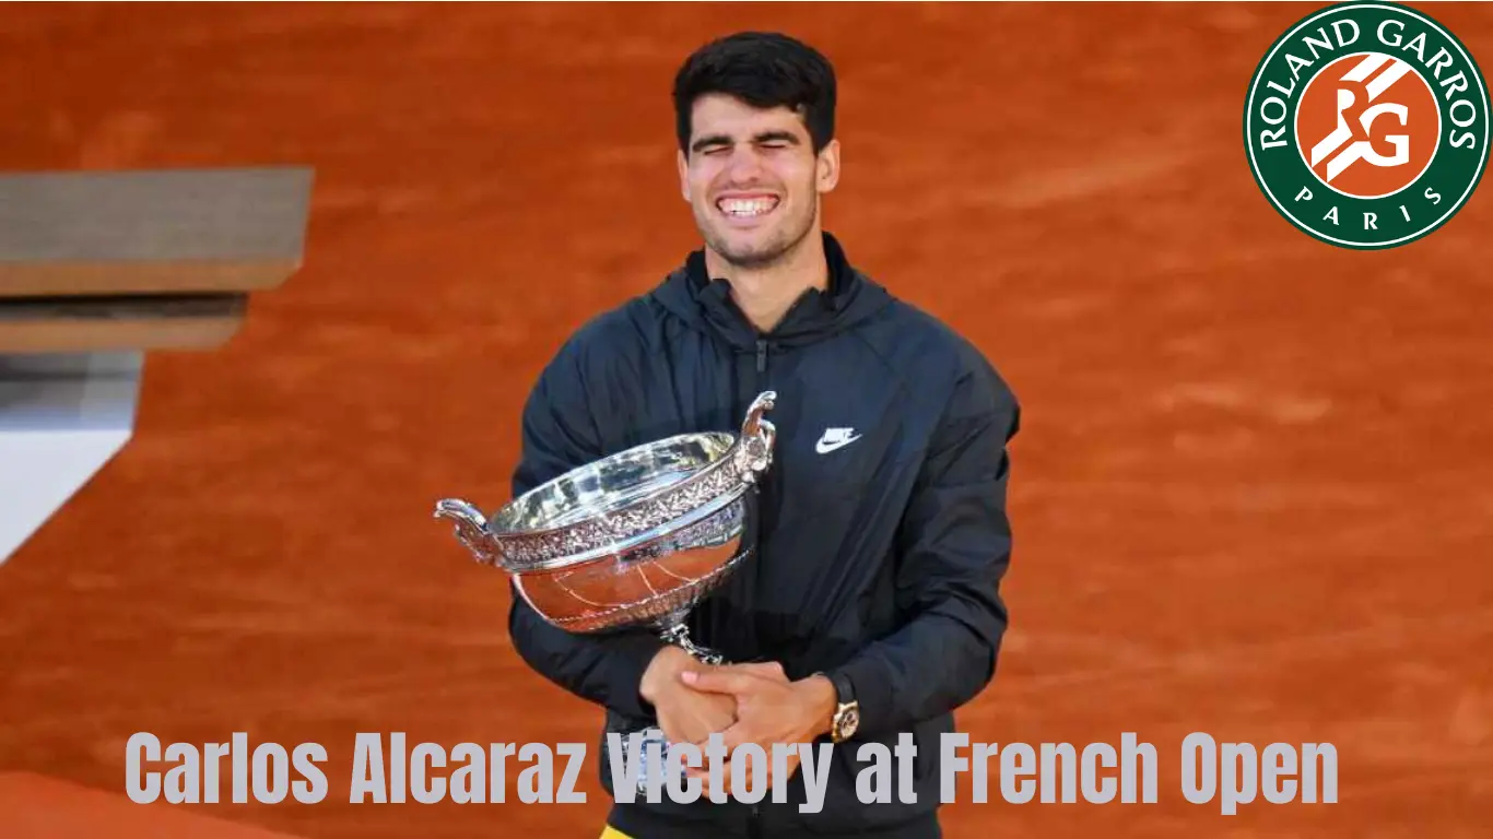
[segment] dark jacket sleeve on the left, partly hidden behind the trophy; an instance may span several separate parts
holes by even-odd
[[[582,367],[567,346],[540,373],[523,412],[523,452],[512,493],[523,493],[603,457]],[[643,629],[578,634],[545,621],[509,585],[508,631],[520,657],[572,694],[633,718],[652,717],[639,696],[643,670],[664,642]]]

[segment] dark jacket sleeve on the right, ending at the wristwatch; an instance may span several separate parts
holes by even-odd
[[[893,634],[836,670],[860,705],[860,733],[908,730],[972,700],[996,673],[1008,624],[1008,443],[1020,406],[988,364],[960,375],[899,533]]]

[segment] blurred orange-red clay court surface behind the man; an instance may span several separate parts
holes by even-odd
[[[696,246],[672,73],[770,27],[841,72],[829,228],[1026,406],[1009,645],[960,729],[1160,751],[1157,805],[993,788],[948,835],[1486,836],[1493,196],[1390,252],[1275,213],[1241,109],[1311,9],[7,6],[4,169],[318,181],[305,269],[221,352],[154,355],[137,437],[0,569],[0,772],[122,797],[133,732],[246,730],[325,743],[331,794],[199,812],[594,836],[594,757],[587,805],[352,806],[352,739],[593,742],[430,509],[503,503],[539,366]],[[1493,64],[1493,9],[1430,13]],[[1188,805],[1193,730],[1332,742],[1341,802]]]

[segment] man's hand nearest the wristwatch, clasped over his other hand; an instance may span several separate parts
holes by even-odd
[[[681,672],[679,679],[697,691],[735,700],[736,721],[721,733],[726,751],[729,754],[741,743],[761,746],[767,757],[764,778],[767,787],[772,785],[772,773],[776,769],[772,760],[773,743],[812,743],[815,737],[829,732],[830,717],[835,712],[835,687],[829,679],[809,676],[790,682],[775,664],[691,669]],[[708,737],[709,733],[691,742],[703,751]],[[799,769],[797,749],[787,757],[787,776],[793,778]],[[709,770],[691,767],[688,772],[700,778],[702,794],[709,796],[712,793]],[[721,767],[721,793],[730,794],[730,760],[727,760]]]

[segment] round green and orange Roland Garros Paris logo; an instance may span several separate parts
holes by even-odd
[[[1344,248],[1393,248],[1447,224],[1489,158],[1489,93],[1445,27],[1393,3],[1299,21],[1260,61],[1244,118],[1277,210]]]

